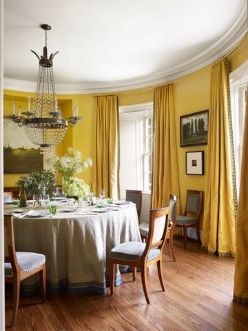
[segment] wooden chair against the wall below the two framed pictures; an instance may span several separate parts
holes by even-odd
[[[200,215],[203,211],[203,191],[187,190],[186,205],[183,215],[176,217],[176,227],[183,228],[183,246],[187,243],[187,228],[196,228],[200,242]]]

